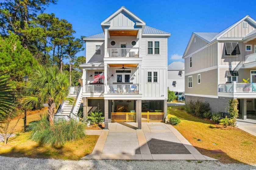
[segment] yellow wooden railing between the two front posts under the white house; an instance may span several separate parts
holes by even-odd
[[[136,113],[130,112],[112,112],[112,122],[136,122]]]

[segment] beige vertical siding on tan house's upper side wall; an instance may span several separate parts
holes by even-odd
[[[190,73],[217,65],[217,42],[198,51],[192,56],[192,67],[190,68],[190,56],[185,58],[185,73]]]

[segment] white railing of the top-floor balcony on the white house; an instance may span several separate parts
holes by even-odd
[[[139,48],[108,48],[108,57],[139,57]]]

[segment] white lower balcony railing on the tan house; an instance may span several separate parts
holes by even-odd
[[[219,84],[219,92],[256,92],[256,83],[228,83]]]

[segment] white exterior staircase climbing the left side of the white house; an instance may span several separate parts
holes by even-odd
[[[69,97],[75,98],[74,104],[70,104],[68,101],[63,101],[54,115],[55,119],[69,120],[70,118],[73,118],[79,120],[80,118],[77,114],[83,99],[82,92],[83,87],[70,87]]]

